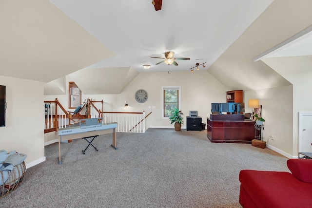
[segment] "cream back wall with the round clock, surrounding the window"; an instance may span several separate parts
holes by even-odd
[[[75,80],[67,80],[75,81]],[[181,86],[181,109],[184,113],[184,124],[186,128],[186,116],[189,111],[198,111],[202,122],[207,122],[211,113],[212,102],[226,102],[226,89],[219,81],[207,71],[171,72],[163,73],[141,73],[125,89],[116,95],[82,95],[82,101],[89,97],[93,100],[104,101],[104,111],[108,112],[143,112],[152,114],[146,119],[147,127],[174,128],[169,119],[162,118],[161,97],[162,86]],[[79,86],[78,86],[79,87]],[[145,103],[135,100],[138,89],[145,89],[149,98]],[[67,90],[68,92],[68,90]],[[64,108],[68,108],[68,95],[46,95],[45,100],[58,98]],[[128,107],[124,107],[125,103]],[[153,106],[156,108],[153,109]],[[151,107],[151,108],[149,108]],[[45,142],[55,139],[53,135],[45,135]]]

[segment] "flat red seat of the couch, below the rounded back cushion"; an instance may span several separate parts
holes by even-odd
[[[289,172],[241,170],[239,181],[245,189],[241,191],[245,196],[239,197],[243,207],[252,200],[256,208],[311,208],[312,184],[297,180]]]

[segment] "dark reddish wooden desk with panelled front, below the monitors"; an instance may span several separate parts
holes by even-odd
[[[211,120],[207,118],[207,137],[217,143],[248,143],[254,139],[255,121]]]

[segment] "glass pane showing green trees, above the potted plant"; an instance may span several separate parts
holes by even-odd
[[[164,117],[169,117],[170,113],[179,107],[179,90],[164,89]]]

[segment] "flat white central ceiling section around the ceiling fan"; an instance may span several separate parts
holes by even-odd
[[[88,68],[134,67],[140,73],[167,71],[166,64],[155,65],[161,59],[150,58],[166,51],[191,58],[177,60],[170,71],[188,71],[197,62],[209,67],[272,1],[163,0],[155,11],[150,0],[51,0],[116,54]]]

